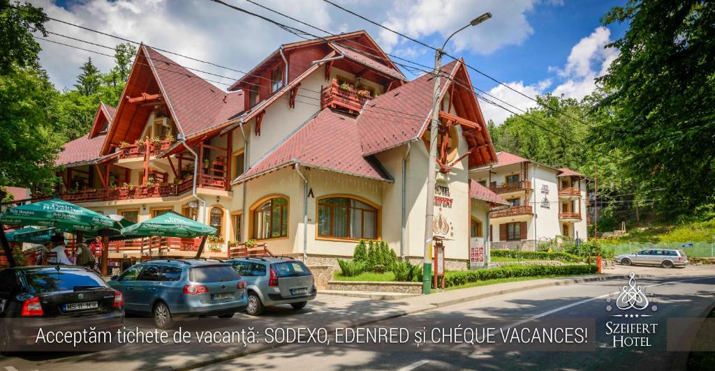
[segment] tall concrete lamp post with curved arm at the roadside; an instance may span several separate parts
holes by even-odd
[[[485,13],[477,18],[473,19],[469,24],[463,26],[461,29],[454,31],[443,44],[442,48],[435,51],[435,70],[433,71],[435,76],[435,86],[433,88],[433,99],[432,99],[432,120],[430,122],[430,161],[428,164],[427,173],[427,207],[425,213],[425,261],[423,265],[423,275],[422,275],[422,293],[430,293],[432,288],[432,261],[430,260],[430,248],[432,248],[432,223],[435,213],[435,171],[437,163],[437,131],[439,126],[439,89],[440,89],[440,70],[442,69],[442,55],[444,54],[445,46],[453,36],[455,36],[459,31],[466,29],[469,26],[476,26],[483,21],[491,18],[491,13]]]

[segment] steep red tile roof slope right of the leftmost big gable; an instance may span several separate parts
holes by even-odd
[[[158,51],[143,48],[184,136],[220,125],[243,111],[242,92],[226,93]]]

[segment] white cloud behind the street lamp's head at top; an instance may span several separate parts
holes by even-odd
[[[475,16],[489,11],[492,19],[455,35],[448,51],[468,49],[475,54],[491,54],[502,46],[521,44],[533,34],[526,13],[536,3],[537,0],[396,1],[383,25],[413,38],[437,35],[437,39],[444,40],[460,25],[468,24]],[[388,50],[411,43],[384,29],[380,30],[379,41]]]

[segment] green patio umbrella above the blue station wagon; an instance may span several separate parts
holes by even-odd
[[[197,258],[201,257],[206,244],[208,235],[215,235],[216,228],[209,225],[199,223],[195,220],[184,217],[177,213],[166,213],[159,215],[156,218],[151,218],[142,223],[130,225],[127,228],[122,228],[123,235],[139,235],[160,237],[179,237],[179,238],[197,238],[203,237],[199,251],[196,254]]]

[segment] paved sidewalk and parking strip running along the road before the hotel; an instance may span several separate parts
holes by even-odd
[[[398,300],[366,300],[336,295],[319,294],[305,310],[295,312],[289,308],[270,308],[261,317],[238,314],[231,320],[200,320],[181,322],[183,330],[194,331],[240,331],[252,327],[255,331],[267,328],[325,328],[332,332],[337,327],[370,325],[382,320],[442,308],[470,300],[488,298],[504,293],[568,285],[593,280],[623,278],[623,275],[581,276],[576,278],[546,278],[542,280],[501,283],[460,290],[450,290],[432,295],[420,295]],[[127,318],[125,327],[132,327],[132,318]],[[147,329],[150,330],[150,329]],[[151,329],[153,330],[153,329]],[[263,338],[263,337],[260,337]],[[244,347],[242,344],[157,344],[124,345],[113,350],[74,355],[49,360],[24,360],[0,357],[0,367],[11,365],[18,370],[69,370],[84,368],[115,370],[186,370],[215,362],[230,360],[242,355],[261,352],[282,345],[257,342]]]

